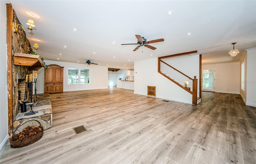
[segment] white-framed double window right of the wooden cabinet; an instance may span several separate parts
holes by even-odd
[[[90,69],[68,68],[68,84],[86,84],[90,82]]]

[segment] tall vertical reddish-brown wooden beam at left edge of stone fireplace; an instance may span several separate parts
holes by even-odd
[[[13,22],[12,4],[6,4],[8,131],[10,136],[12,135],[12,131],[13,131],[12,22]]]

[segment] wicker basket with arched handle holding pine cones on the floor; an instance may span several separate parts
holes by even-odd
[[[28,121],[37,121],[37,120],[28,120]],[[22,126],[23,124],[27,123],[28,121],[25,121],[24,123],[20,124],[13,132],[12,136],[10,137],[10,143],[11,143],[11,147],[12,148],[21,148],[23,146],[28,146],[38,140],[40,140],[40,138],[42,138],[43,134],[44,134],[44,129],[40,130],[39,132],[37,132],[36,134],[30,136],[29,138],[25,138],[23,140],[19,140],[19,141],[13,141],[13,136],[16,132],[16,130]],[[39,121],[37,121],[40,125],[41,123]],[[42,126],[42,125],[41,125]]]

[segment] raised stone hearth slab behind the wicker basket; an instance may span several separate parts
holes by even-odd
[[[15,117],[13,128],[16,129],[20,124],[22,124],[24,121],[28,120],[37,120],[39,121],[44,130],[52,127],[52,105],[50,101],[50,94],[38,94],[37,95],[37,103],[32,106],[33,111],[38,111],[38,113],[34,115],[28,115],[25,116],[25,113],[28,113],[31,108],[29,105],[26,106],[27,111],[24,113],[21,113],[20,109],[18,111],[18,115]],[[39,124],[36,121],[29,121],[28,123],[25,123],[24,125],[20,126],[19,129],[15,132],[18,133],[22,131],[23,128],[26,126],[38,126]]]

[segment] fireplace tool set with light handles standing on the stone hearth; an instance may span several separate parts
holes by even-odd
[[[32,110],[32,95],[33,95],[33,83],[35,84],[35,89],[34,89],[34,104],[37,103],[37,95],[36,95],[36,79],[37,79],[37,71],[34,71],[34,81],[33,81],[33,74],[26,75],[26,82],[25,82],[25,93],[24,93],[24,100],[21,101],[20,103],[21,106],[21,112],[26,112],[26,106],[29,105],[31,110],[28,113],[25,113],[25,116],[28,115],[34,115],[38,113],[38,111],[33,111]],[[27,100],[27,87],[29,88],[29,95],[28,95],[28,100]]]

